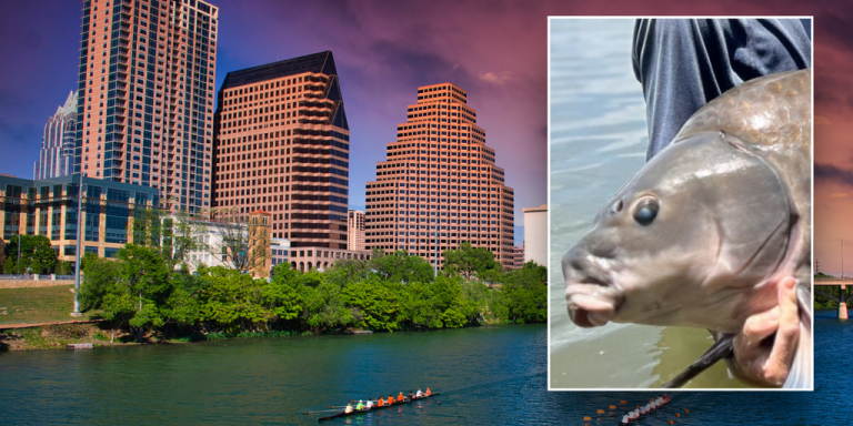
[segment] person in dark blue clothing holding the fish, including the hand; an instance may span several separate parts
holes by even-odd
[[[695,111],[735,85],[810,68],[805,26],[797,19],[638,20],[633,63],[648,105],[646,158],[669,145]],[[773,387],[785,382],[799,335],[795,284],[794,277],[780,282],[779,306],[747,318],[736,335],[729,366],[740,379]],[[774,333],[773,346],[762,345]]]

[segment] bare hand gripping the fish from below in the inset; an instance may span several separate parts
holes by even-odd
[[[800,338],[796,280],[784,277],[776,294],[779,306],[746,318],[734,337],[734,359],[726,361],[737,378],[762,387],[785,383]]]

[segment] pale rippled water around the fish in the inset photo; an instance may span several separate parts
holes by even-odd
[[[645,163],[645,102],[631,63],[633,20],[551,22],[551,387],[660,385],[712,343],[708,332],[610,324],[583,329],[565,310],[562,255]],[[740,387],[721,364],[688,387]]]

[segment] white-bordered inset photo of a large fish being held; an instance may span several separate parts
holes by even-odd
[[[813,389],[812,20],[551,17],[548,67],[549,389]]]

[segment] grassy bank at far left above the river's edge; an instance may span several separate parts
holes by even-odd
[[[72,320],[73,285],[36,288],[0,288],[0,324],[33,324]],[[3,314],[6,313],[6,314]],[[90,320],[100,312],[92,311],[77,320]]]

